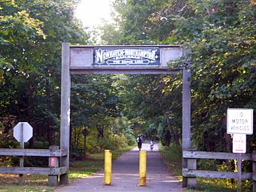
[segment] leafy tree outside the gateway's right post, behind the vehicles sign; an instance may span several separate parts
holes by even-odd
[[[175,36],[192,53],[194,139],[201,150],[222,151],[230,143],[225,136],[227,108],[255,106],[254,5],[249,1],[188,5],[194,14],[176,20]],[[216,143],[215,138],[226,139]]]

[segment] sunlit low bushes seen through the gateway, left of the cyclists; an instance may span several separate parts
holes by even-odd
[[[105,149],[115,150],[135,144],[136,138],[130,128],[130,122],[126,118],[105,118],[104,126],[102,124],[95,127],[91,123],[87,127],[77,126],[73,128],[72,154],[74,156],[81,157],[82,151],[84,151],[84,136],[81,133],[85,128],[89,133],[86,138],[86,148],[89,153],[102,152]]]

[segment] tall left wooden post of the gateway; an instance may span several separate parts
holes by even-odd
[[[61,70],[61,107],[60,107],[60,149],[68,151],[66,157],[60,157],[60,166],[66,166],[67,172],[59,176],[59,184],[69,183],[69,135],[70,135],[70,47],[62,43]]]

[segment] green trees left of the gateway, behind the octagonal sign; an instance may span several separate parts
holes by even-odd
[[[5,1],[0,6],[0,117],[28,121],[33,139],[58,145],[61,43],[84,44],[88,38],[73,18],[75,1]],[[13,128],[8,121],[3,126],[5,133]]]

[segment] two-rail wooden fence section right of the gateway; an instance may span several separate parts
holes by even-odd
[[[187,187],[197,187],[197,177],[203,178],[239,178],[238,172],[218,172],[209,170],[197,170],[197,159],[213,160],[251,160],[253,162],[252,172],[242,172],[242,179],[253,181],[253,191],[256,191],[256,151],[252,154],[232,154],[206,151],[183,151],[183,158],[187,160],[187,167],[182,169],[182,175],[187,178]]]

